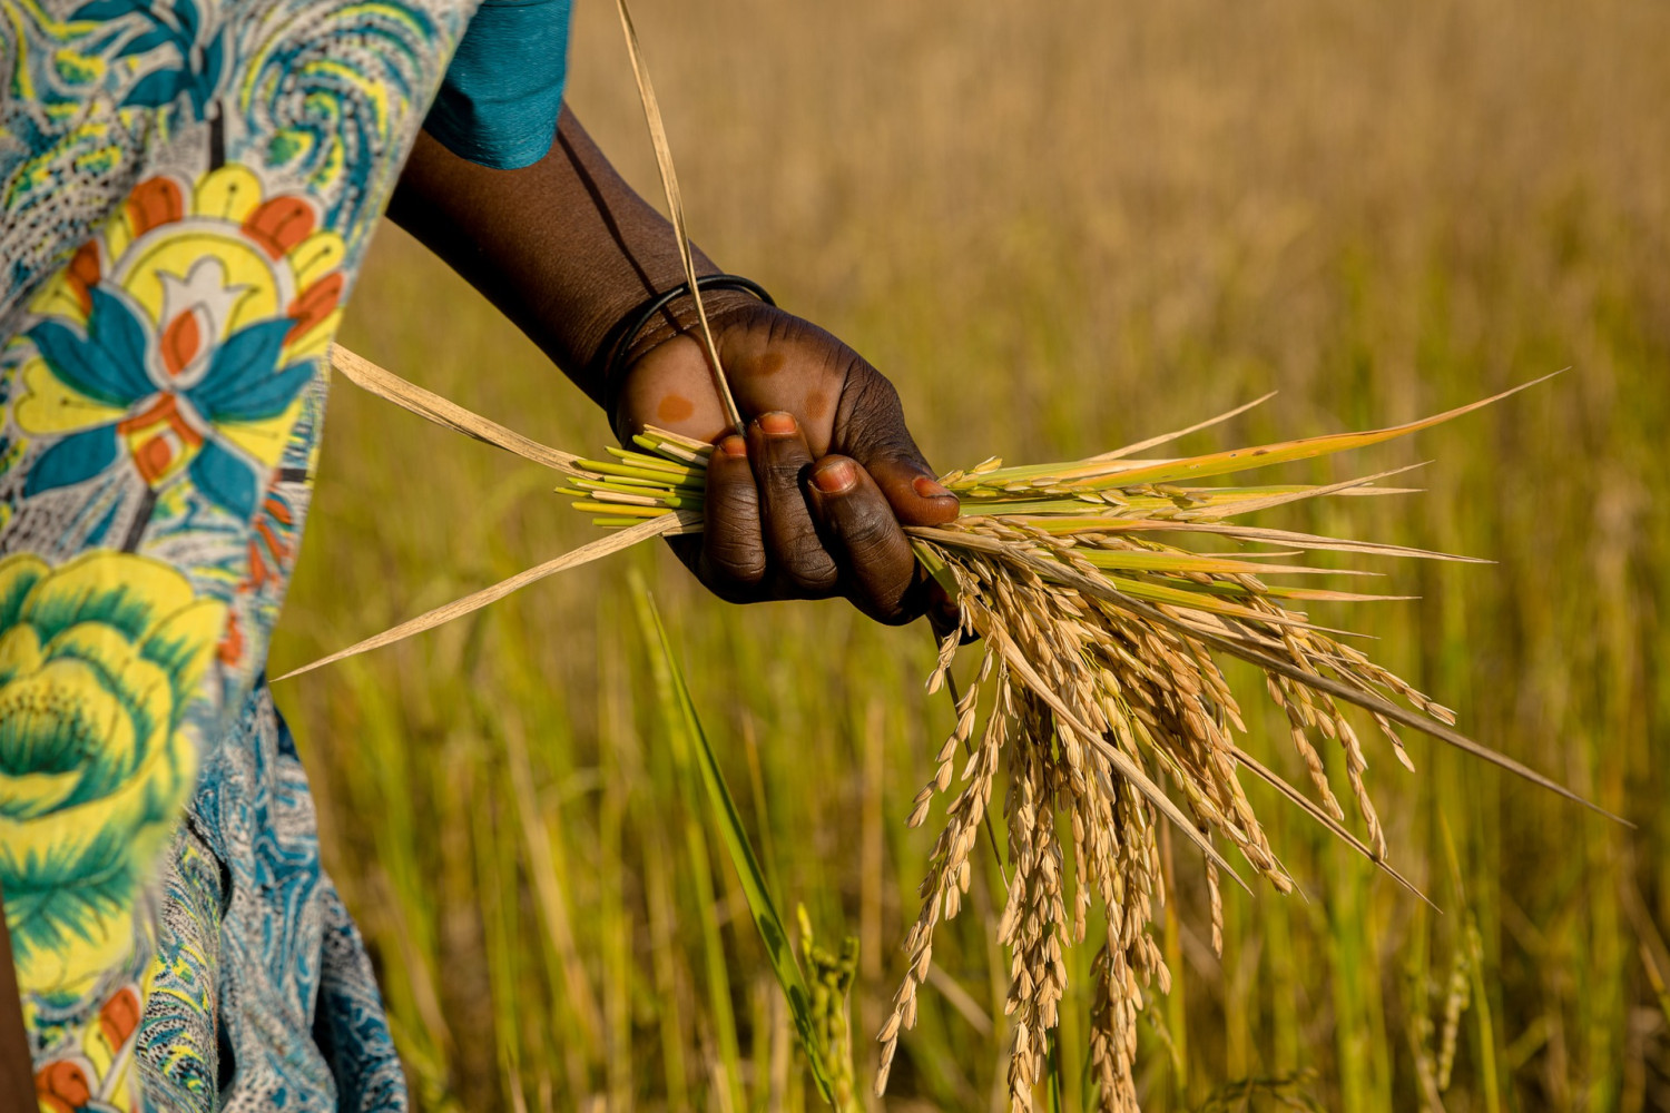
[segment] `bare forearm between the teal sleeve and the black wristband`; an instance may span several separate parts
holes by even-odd
[[[479,167],[421,133],[389,217],[598,402],[616,325],[683,280],[671,225],[615,172],[568,108],[549,154],[521,170]],[[696,252],[696,274],[716,270]],[[673,312],[676,322],[666,317],[651,334],[686,320],[690,307]]]

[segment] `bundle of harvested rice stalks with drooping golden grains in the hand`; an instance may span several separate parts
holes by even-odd
[[[1364,739],[1346,706],[1366,711],[1408,769],[1414,766],[1398,738],[1399,724],[1570,796],[1455,733],[1448,709],[1299,609],[1311,601],[1393,597],[1299,586],[1318,572],[1341,574],[1298,562],[1306,552],[1463,557],[1237,521],[1299,499],[1401,492],[1378,486],[1393,472],[1328,486],[1206,482],[1401,437],[1500,397],[1374,432],[1181,459],[1136,457],[1212,424],[1202,422],[1086,461],[1005,467],[990,459],[942,477],[962,499],[964,516],[910,534],[924,566],[957,599],[962,626],[940,642],[929,689],[952,681],[960,652],[977,656],[979,664],[967,687],[954,689],[957,726],[908,819],[912,826],[925,823],[935,798],[949,798],[920,888],[922,911],[903,944],[908,973],[880,1033],[877,1093],[887,1086],[900,1035],[915,1021],[935,926],[959,913],[969,889],[969,859],[999,771],[1005,774],[1009,893],[997,933],[1012,961],[1014,1110],[1032,1108],[1047,1033],[1057,1025],[1065,990],[1062,949],[1084,941],[1094,904],[1106,914],[1106,936],[1097,939],[1092,963],[1091,1060],[1102,1108],[1137,1108],[1137,1013],[1146,988],[1166,991],[1171,983],[1149,934],[1161,886],[1156,834],[1162,818],[1206,858],[1214,948],[1222,946],[1221,879],[1227,873],[1241,881],[1227,853],[1276,889],[1293,888],[1242,791],[1242,771],[1273,784],[1408,886],[1384,861],[1386,839],[1364,781]],[[710,446],[658,429],[645,431],[636,444],[638,452],[610,449],[608,461],[574,461],[564,491],[598,526],[633,527],[670,514],[691,522],[701,509]],[[1197,536],[1274,551],[1219,556],[1182,547]],[[967,636],[975,641],[965,647]],[[1226,657],[1263,669],[1266,694],[1284,711],[1291,743],[1309,771],[1314,801],[1242,748],[1246,723],[1221,669]],[[1346,809],[1326,773],[1321,749],[1329,746],[1341,751],[1361,838],[1346,826]],[[1057,836],[1062,831],[1070,831],[1070,843]]]

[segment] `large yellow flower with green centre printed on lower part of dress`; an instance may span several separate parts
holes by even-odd
[[[150,557],[0,559],[0,891],[25,993],[85,993],[134,946],[224,624],[224,604]]]

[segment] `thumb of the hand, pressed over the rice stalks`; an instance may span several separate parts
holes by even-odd
[[[837,451],[870,472],[905,526],[944,526],[957,517],[957,496],[942,487],[922,459],[898,392],[868,364],[853,367],[842,392]]]

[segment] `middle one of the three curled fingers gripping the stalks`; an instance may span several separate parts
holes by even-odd
[[[762,414],[748,427],[748,459],[760,491],[760,534],[775,577],[788,594],[833,594],[840,569],[823,549],[807,506],[803,484],[812,449],[793,415]]]

